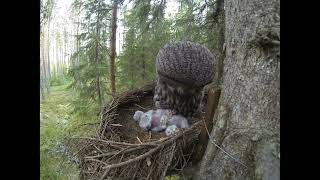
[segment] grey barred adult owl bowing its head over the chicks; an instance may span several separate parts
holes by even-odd
[[[156,59],[156,107],[187,119],[196,116],[203,87],[213,80],[214,66],[214,55],[203,45],[188,41],[165,45]]]

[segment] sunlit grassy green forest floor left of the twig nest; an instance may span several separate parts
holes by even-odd
[[[54,86],[40,103],[40,177],[42,180],[78,179],[77,167],[63,156],[63,139],[72,118],[72,90]]]

